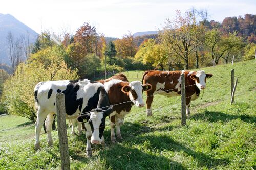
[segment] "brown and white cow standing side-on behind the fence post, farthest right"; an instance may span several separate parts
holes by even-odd
[[[205,74],[204,71],[145,71],[142,83],[152,85],[152,89],[146,92],[147,116],[152,115],[152,102],[156,93],[165,96],[177,96],[181,94],[181,74],[185,74],[186,85],[186,113],[190,114],[191,100],[199,97],[200,91],[206,87],[206,78],[212,74]]]

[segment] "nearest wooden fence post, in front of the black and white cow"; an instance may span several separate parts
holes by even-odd
[[[63,93],[56,94],[56,110],[61,169],[70,170],[68,136],[66,127],[65,96]]]

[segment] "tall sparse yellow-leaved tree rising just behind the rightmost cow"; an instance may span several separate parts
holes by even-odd
[[[198,25],[198,21],[191,11],[185,12],[184,15],[179,10],[176,12],[175,20],[167,19],[163,31],[159,33],[160,40],[169,47],[172,53],[185,62],[186,69],[188,69],[188,57],[201,44],[200,40],[204,29],[202,25]]]

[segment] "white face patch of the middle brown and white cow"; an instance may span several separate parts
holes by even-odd
[[[129,83],[129,86],[131,87],[131,90],[134,90],[137,93],[137,99],[133,99],[133,95],[131,91],[129,92],[129,98],[130,100],[135,104],[137,107],[143,107],[145,105],[143,99],[142,99],[142,84],[140,81],[133,81]]]

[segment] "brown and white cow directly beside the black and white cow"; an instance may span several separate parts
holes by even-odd
[[[115,127],[117,137],[122,139],[120,126],[123,124],[125,115],[131,111],[133,105],[137,107],[144,107],[145,104],[142,99],[142,91],[150,90],[151,85],[142,85],[140,81],[133,81],[129,83],[128,79],[123,74],[112,76],[104,81],[100,80],[100,82],[104,83],[104,88],[108,93],[110,104],[114,105],[112,113],[110,114],[110,121],[111,141],[112,143],[115,143]]]

